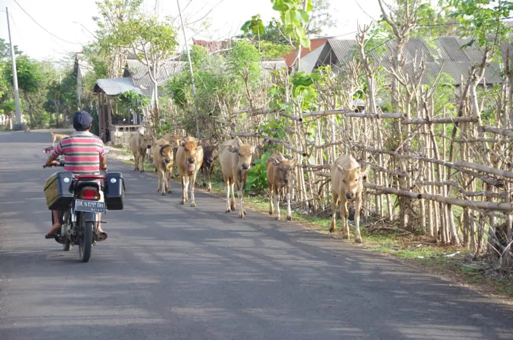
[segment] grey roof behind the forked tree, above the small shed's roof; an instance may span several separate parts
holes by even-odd
[[[141,61],[137,59],[127,59],[127,66],[135,86],[140,87],[141,89],[151,88],[151,79],[148,74],[148,68]],[[165,85],[173,75],[184,70],[186,66],[186,61],[167,61],[159,68],[159,73],[157,74],[157,85],[159,87]]]

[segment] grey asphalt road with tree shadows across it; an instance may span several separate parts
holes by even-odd
[[[0,133],[0,339],[513,339],[513,310],[319,233],[123,171],[89,263],[45,240],[48,133]]]

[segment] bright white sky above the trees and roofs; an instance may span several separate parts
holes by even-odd
[[[38,60],[67,58],[70,52],[80,52],[82,45],[93,40],[96,25],[92,17],[98,15],[95,1],[0,0],[0,38],[9,41],[8,7],[14,45]],[[264,23],[272,17],[279,17],[279,12],[272,9],[270,0],[179,1],[189,44],[192,44],[192,37],[218,40],[238,35],[242,24],[252,15],[261,14]],[[143,6],[147,12],[156,9],[160,16],[178,15],[176,0],[145,0]],[[337,27],[324,34],[340,38],[353,38],[358,23],[369,24],[372,19],[378,19],[381,13],[378,0],[331,0],[330,6],[332,16],[337,19]],[[208,30],[203,25],[205,20],[210,24]],[[178,19],[176,26],[179,25]],[[180,46],[183,48],[185,40],[181,29],[179,33]]]

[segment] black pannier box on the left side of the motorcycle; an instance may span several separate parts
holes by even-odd
[[[73,200],[70,191],[73,173],[60,171],[50,176],[45,183],[46,205],[50,210],[66,210]]]

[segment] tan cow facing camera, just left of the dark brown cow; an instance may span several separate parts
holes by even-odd
[[[191,207],[196,206],[194,197],[194,185],[196,175],[203,164],[203,147],[199,141],[193,137],[183,139],[176,151],[176,166],[182,182],[182,203],[188,200],[189,182],[191,185]]]

